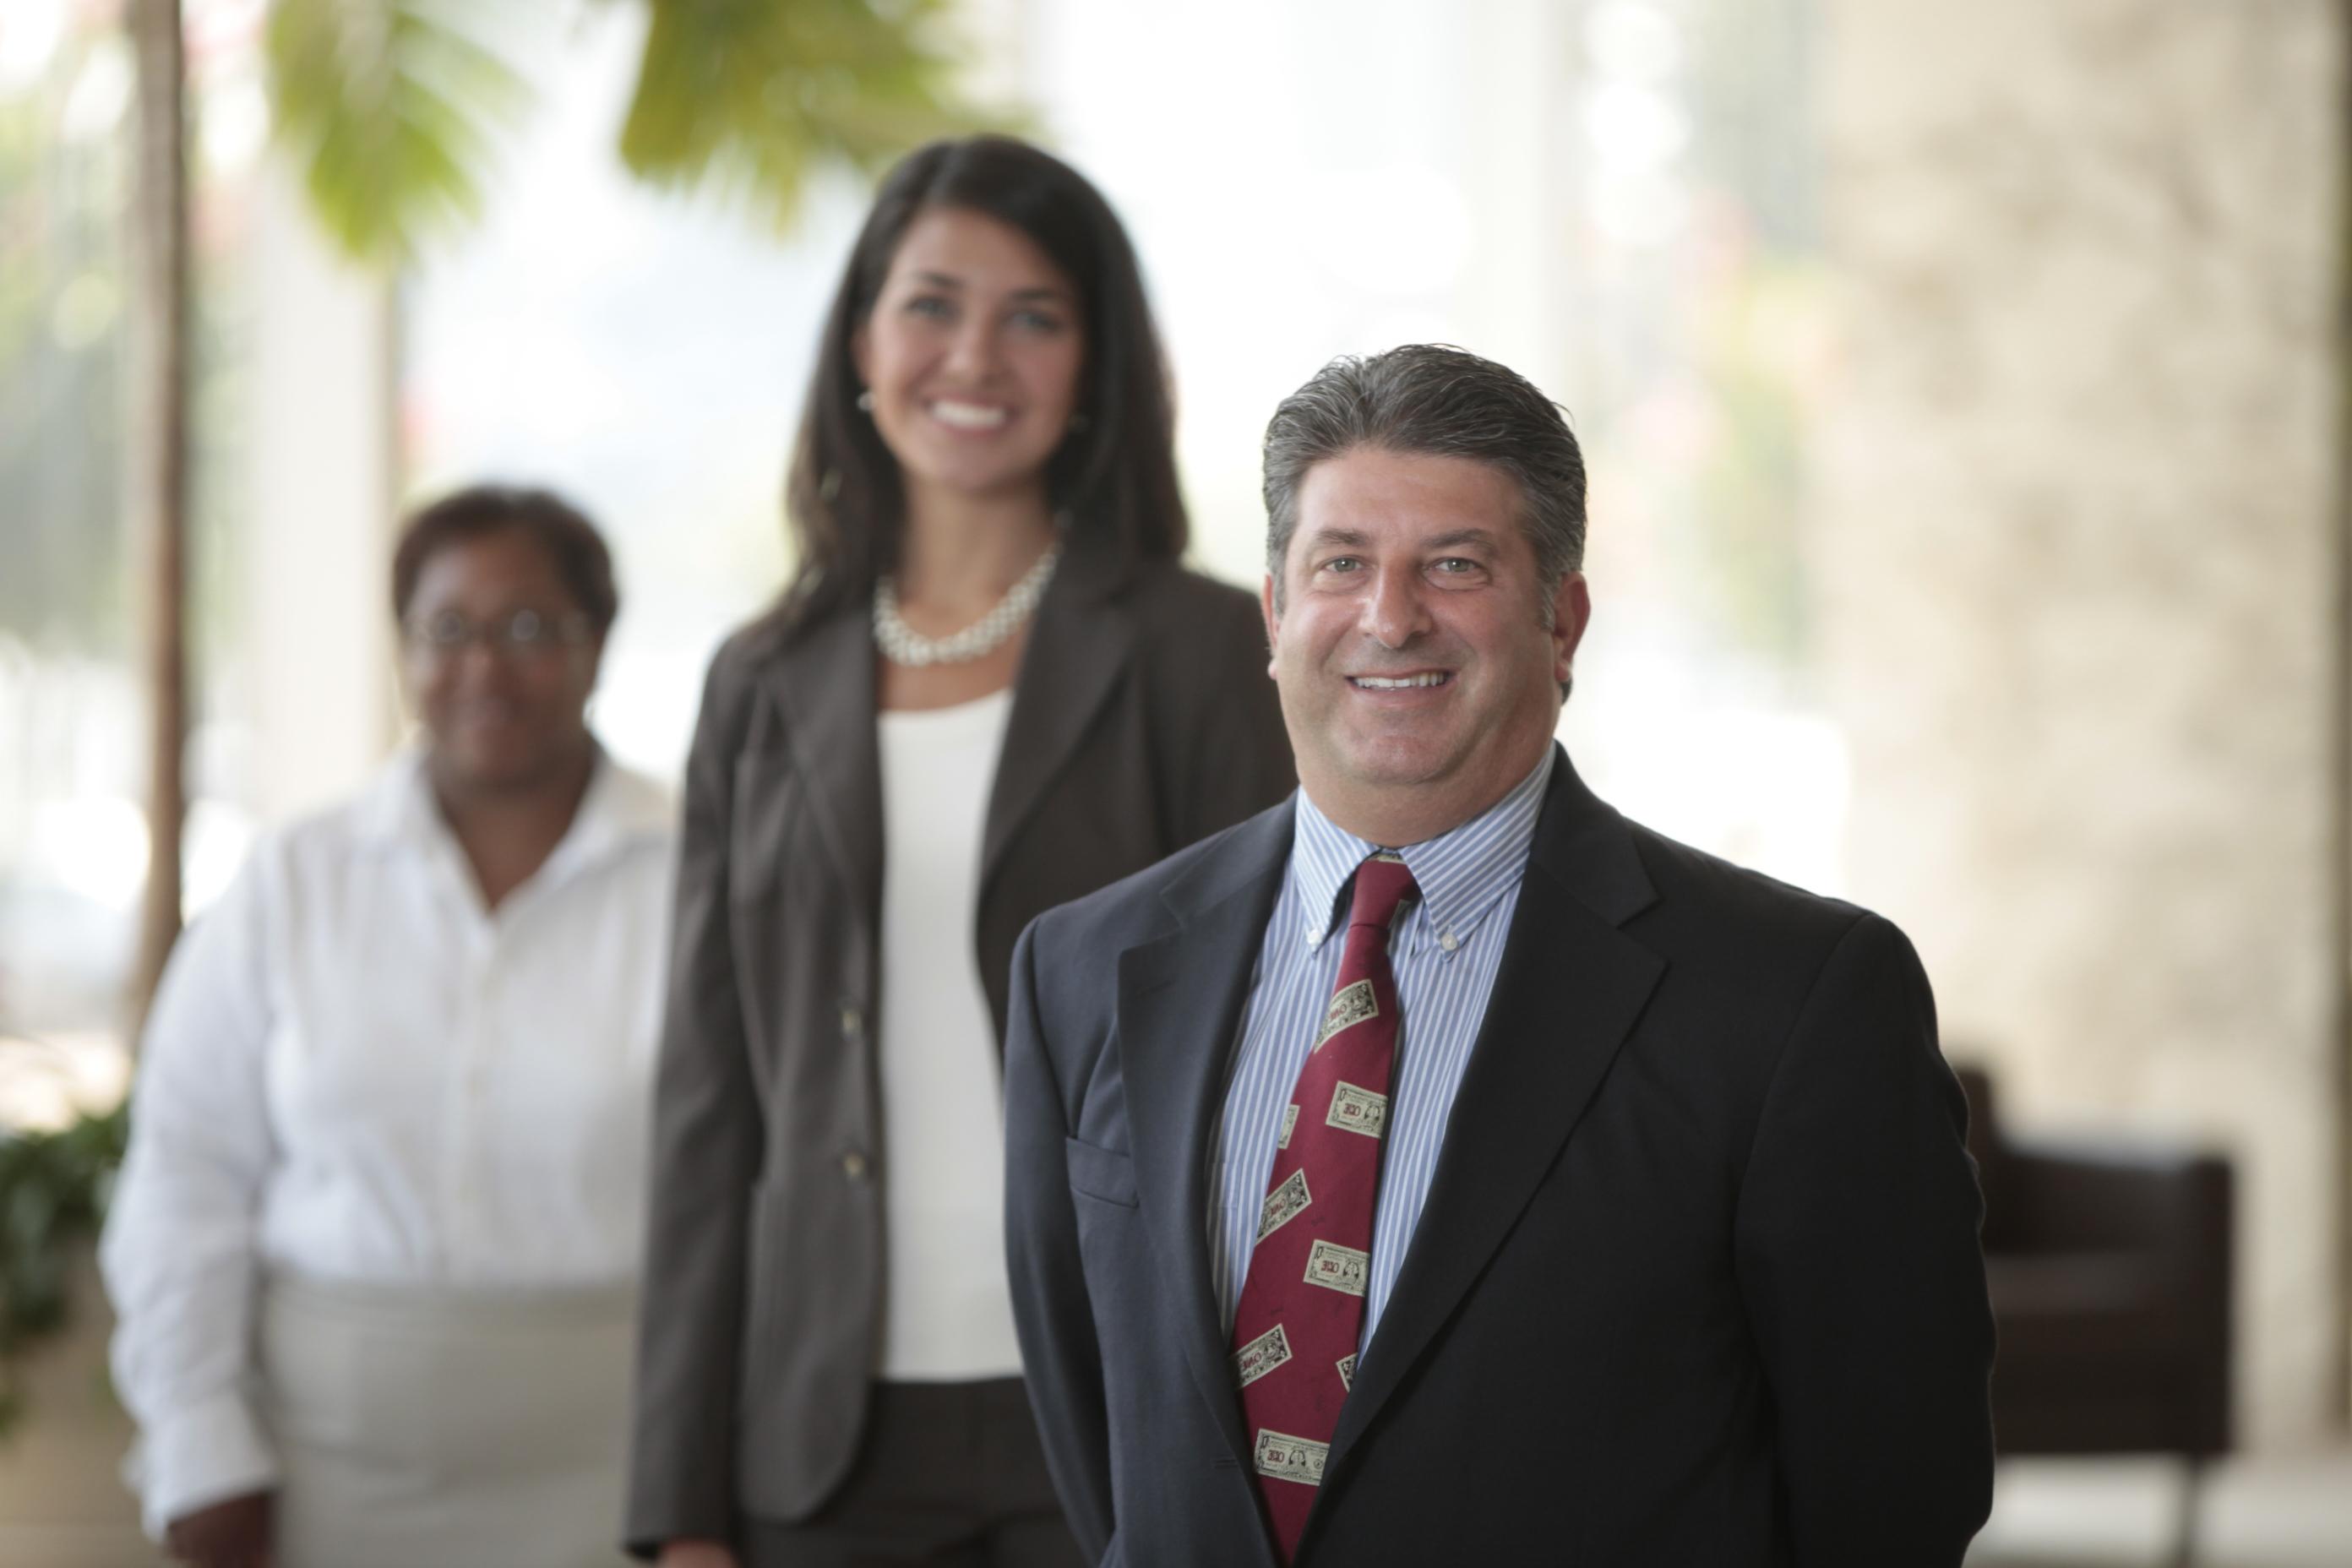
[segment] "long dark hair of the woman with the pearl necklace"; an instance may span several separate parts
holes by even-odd
[[[786,515],[800,569],[788,621],[807,625],[863,602],[898,559],[906,487],[898,461],[858,407],[849,341],[873,313],[891,256],[917,214],[960,207],[1009,223],[1058,266],[1080,294],[1087,357],[1080,416],[1047,461],[1047,496],[1073,534],[1127,559],[1174,559],[1185,545],[1176,489],[1176,407],[1143,299],[1143,273],[1110,202],[1070,165],[1011,136],[934,141],[882,181],[826,313],[816,374],[793,444]],[[1075,543],[1075,541],[1073,541]]]

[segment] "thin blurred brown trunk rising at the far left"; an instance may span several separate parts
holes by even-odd
[[[132,0],[139,174],[132,397],[134,534],[148,661],[148,879],[132,971],[132,1027],[179,938],[179,842],[188,813],[188,71],[179,0]]]

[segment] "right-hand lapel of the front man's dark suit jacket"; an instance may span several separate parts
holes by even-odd
[[[1503,1246],[1642,1016],[1665,961],[1618,924],[1653,898],[1623,818],[1562,755],[1428,1204],[1331,1434],[1331,1472]]]

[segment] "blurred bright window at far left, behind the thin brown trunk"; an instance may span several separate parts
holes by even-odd
[[[242,197],[261,7],[188,7],[195,637],[188,903],[242,856],[233,769]],[[146,875],[146,691],[127,491],[134,63],[113,7],[0,24],[0,1124],[120,1093]]]

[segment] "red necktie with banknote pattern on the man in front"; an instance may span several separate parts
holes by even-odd
[[[1355,867],[1338,985],[1282,1112],[1275,1175],[1232,1316],[1232,1371],[1258,1495],[1284,1563],[1298,1549],[1338,1406],[1355,1382],[1388,1074],[1397,1058],[1388,929],[1414,891],[1414,875],[1397,856],[1371,856]]]

